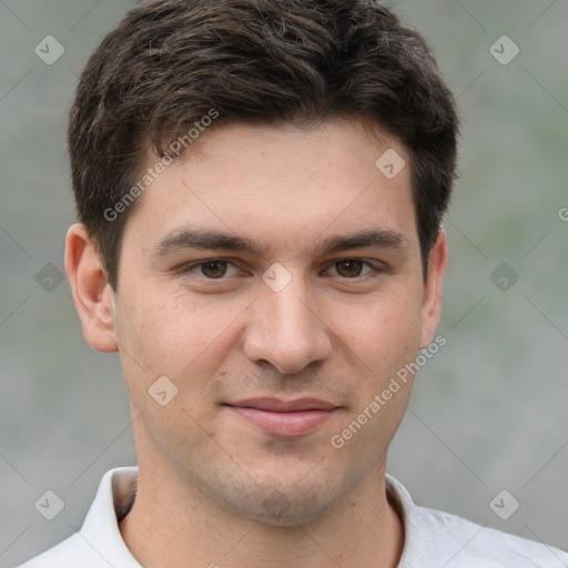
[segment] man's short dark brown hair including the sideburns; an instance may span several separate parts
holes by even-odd
[[[152,0],[92,53],[69,120],[79,220],[113,288],[135,202],[115,219],[105,211],[144,175],[148,149],[168,156],[212,109],[216,122],[358,116],[397,136],[410,155],[426,277],[455,178],[458,120],[422,36],[374,0]]]

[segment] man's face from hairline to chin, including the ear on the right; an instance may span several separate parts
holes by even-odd
[[[307,523],[385,466],[412,379],[382,393],[432,339],[444,235],[425,285],[409,168],[375,165],[408,153],[363,124],[232,124],[200,144],[123,237],[110,333],[138,450],[227,510]]]

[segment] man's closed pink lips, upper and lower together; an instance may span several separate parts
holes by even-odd
[[[275,436],[304,436],[317,429],[338,407],[317,398],[248,398],[224,405],[241,418]]]

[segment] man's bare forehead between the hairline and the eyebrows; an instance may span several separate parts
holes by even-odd
[[[125,240],[148,250],[175,232],[206,230],[265,252],[376,229],[416,240],[408,153],[387,133],[344,120],[222,124],[196,142],[139,197]]]

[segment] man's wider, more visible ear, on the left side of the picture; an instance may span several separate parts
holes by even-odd
[[[118,351],[114,294],[82,223],[75,223],[67,233],[65,271],[87,343],[104,353]]]

